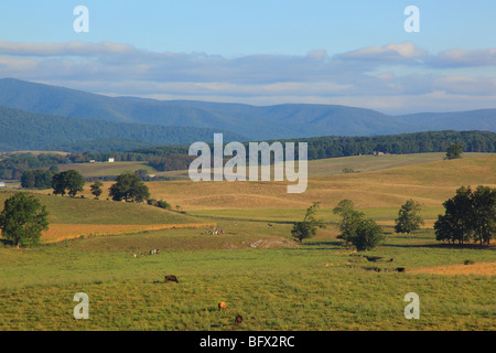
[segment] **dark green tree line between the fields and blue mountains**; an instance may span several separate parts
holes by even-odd
[[[271,143],[272,141],[268,141]],[[450,146],[457,146],[462,152],[496,152],[496,133],[488,131],[429,131],[373,137],[317,137],[283,140],[285,142],[308,142],[309,160],[357,154],[374,151],[408,154],[446,152]],[[245,142],[248,146],[248,142]],[[188,146],[160,146],[136,149],[128,152],[74,152],[19,153],[0,160],[0,179],[20,180],[28,169],[50,169],[64,163],[88,163],[91,160],[105,162],[111,157],[116,161],[144,161],[159,171],[187,169],[194,157],[188,156]],[[211,146],[213,148],[213,145]],[[454,151],[457,152],[457,151]],[[460,152],[460,151],[459,151]],[[460,154],[460,153],[459,153]],[[295,149],[298,159],[298,148]],[[249,160],[249,149],[247,149]]]

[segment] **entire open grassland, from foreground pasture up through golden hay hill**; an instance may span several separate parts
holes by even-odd
[[[39,192],[53,229],[71,228],[77,238],[0,246],[0,330],[495,330],[495,247],[440,244],[432,222],[461,185],[496,186],[496,157],[408,158],[385,159],[378,170],[367,157],[358,167],[346,164],[355,158],[316,161],[304,194],[288,194],[283,182],[147,183],[152,197],[186,214],[96,201],[87,191],[86,199]],[[360,172],[341,173],[344,163]],[[0,193],[0,207],[11,193]],[[428,222],[411,235],[395,234],[409,197],[424,205]],[[382,225],[379,247],[356,253],[336,238],[331,210],[342,199]],[[296,244],[291,222],[314,201],[327,227]],[[212,226],[224,234],[207,234]],[[131,257],[154,248],[161,253]],[[179,284],[165,284],[165,275]],[[77,292],[89,296],[89,320],[73,317]],[[403,317],[408,292],[420,297],[419,320]],[[237,314],[240,325],[233,323]]]

